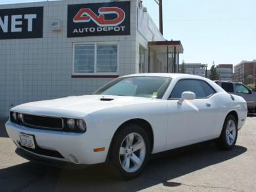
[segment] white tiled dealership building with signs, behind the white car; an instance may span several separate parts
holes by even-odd
[[[182,52],[140,0],[0,5],[0,117],[25,102],[91,94],[122,75],[177,72]]]

